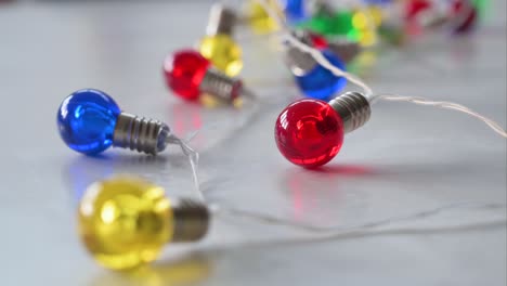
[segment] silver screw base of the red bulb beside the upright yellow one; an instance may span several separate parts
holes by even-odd
[[[243,81],[210,68],[206,72],[203,81],[200,81],[199,89],[202,92],[231,103],[242,94]]]

